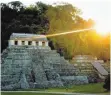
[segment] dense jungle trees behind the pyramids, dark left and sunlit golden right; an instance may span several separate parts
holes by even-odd
[[[85,20],[77,7],[62,3],[47,5],[37,2],[24,6],[19,1],[1,3],[1,52],[12,33],[55,34],[92,28],[94,21]],[[50,37],[49,45],[66,59],[77,54],[90,54],[98,59],[110,59],[110,34],[101,36],[95,30]]]

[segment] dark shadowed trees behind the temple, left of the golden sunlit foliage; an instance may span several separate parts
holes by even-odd
[[[10,35],[15,33],[46,33],[48,20],[45,16],[48,5],[37,3],[25,7],[19,1],[1,3],[2,50],[8,45]],[[38,7],[39,6],[39,7]]]

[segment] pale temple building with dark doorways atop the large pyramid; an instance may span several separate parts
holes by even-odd
[[[48,46],[45,35],[13,33],[9,39],[9,46]]]

